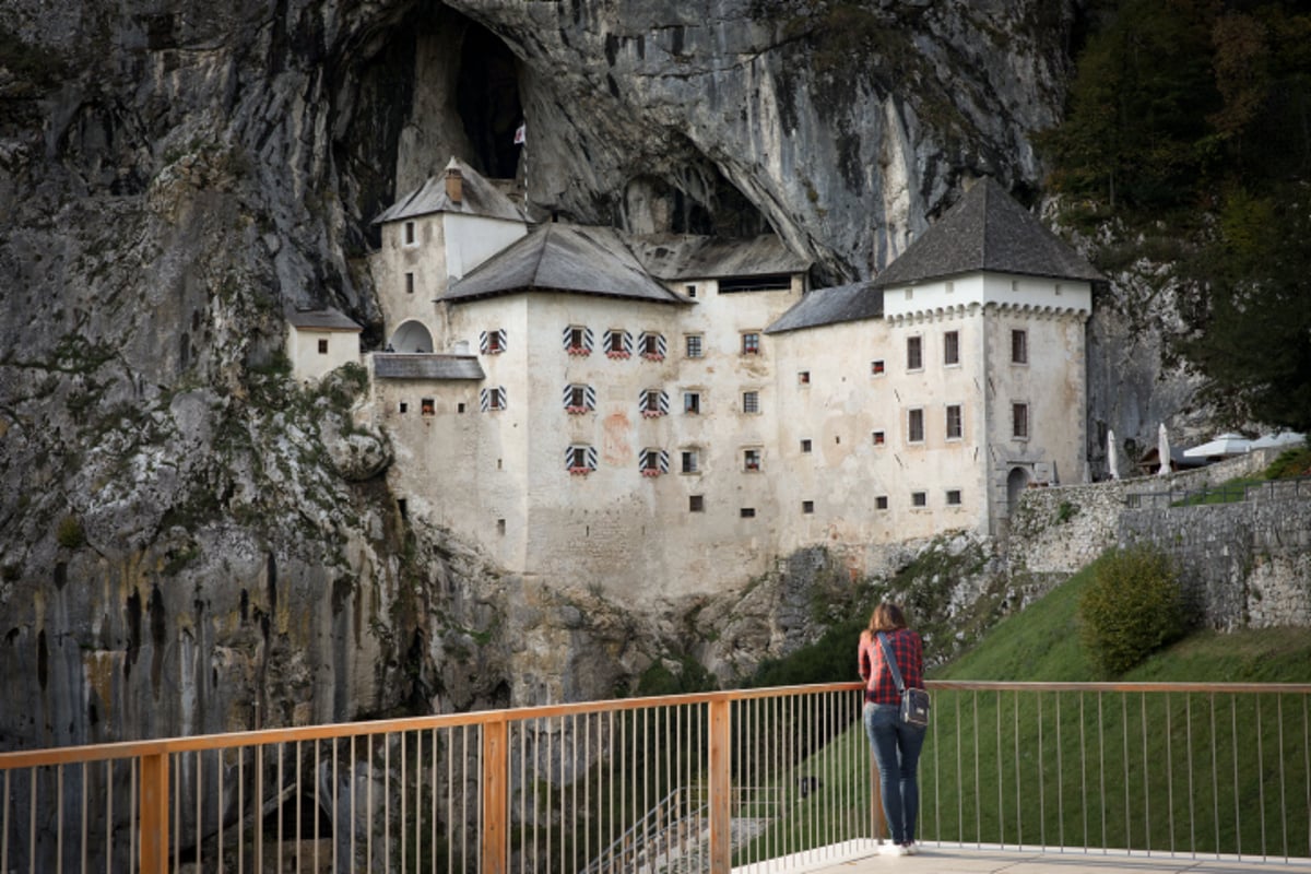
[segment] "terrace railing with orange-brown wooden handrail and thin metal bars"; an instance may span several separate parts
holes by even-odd
[[[919,840],[1311,857],[1311,684],[929,681]],[[751,871],[881,835],[859,684],[0,753],[0,871]]]

